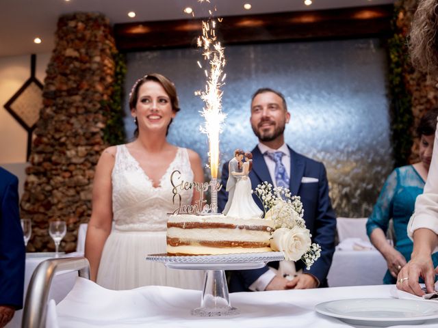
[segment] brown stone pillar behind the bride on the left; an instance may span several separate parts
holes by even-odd
[[[60,250],[74,251],[79,223],[90,219],[94,167],[107,146],[104,101],[112,94],[115,51],[105,16],[60,17],[21,201],[21,217],[33,226],[27,251],[53,251],[48,227],[56,219],[67,223]]]

